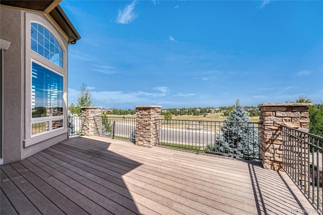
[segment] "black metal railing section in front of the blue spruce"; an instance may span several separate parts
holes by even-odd
[[[157,120],[156,145],[259,159],[259,123]]]

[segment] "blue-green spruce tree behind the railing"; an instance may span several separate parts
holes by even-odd
[[[258,157],[258,128],[250,122],[247,112],[240,105],[239,99],[221,128],[217,137],[217,151],[245,157]]]

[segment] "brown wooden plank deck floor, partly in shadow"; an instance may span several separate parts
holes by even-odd
[[[284,172],[258,163],[76,137],[1,166],[1,214],[304,214]]]

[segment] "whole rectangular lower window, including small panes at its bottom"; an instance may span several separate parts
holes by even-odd
[[[64,127],[64,77],[32,62],[31,134]]]

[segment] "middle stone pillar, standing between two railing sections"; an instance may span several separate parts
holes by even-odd
[[[160,134],[161,106],[135,106],[136,108],[136,145],[152,147]]]

